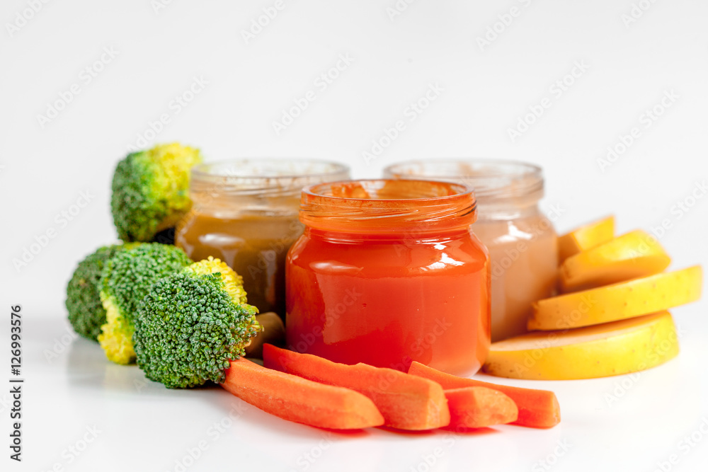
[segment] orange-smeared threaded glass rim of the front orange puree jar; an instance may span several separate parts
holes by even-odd
[[[372,197],[375,195],[375,197]],[[474,190],[440,180],[364,179],[302,190],[300,221],[329,231],[396,234],[468,228],[476,219]]]

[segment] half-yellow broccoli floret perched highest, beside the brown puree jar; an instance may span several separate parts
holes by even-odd
[[[115,168],[110,209],[123,241],[152,241],[186,214],[190,169],[202,161],[198,149],[160,144],[128,154]],[[160,241],[161,242],[161,241]]]

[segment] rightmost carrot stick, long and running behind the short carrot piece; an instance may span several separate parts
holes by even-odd
[[[501,393],[509,396],[519,408],[519,418],[513,422],[514,425],[547,428],[554,427],[561,422],[561,408],[556,394],[552,391],[511,387],[465,379],[464,377],[445,374],[445,372],[440,372],[416,361],[413,361],[408,373],[436,381],[442,385],[442,388],[446,389],[478,386],[501,391]]]

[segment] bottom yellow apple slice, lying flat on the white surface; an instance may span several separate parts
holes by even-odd
[[[492,343],[482,370],[511,379],[594,379],[656,367],[678,354],[668,311]]]

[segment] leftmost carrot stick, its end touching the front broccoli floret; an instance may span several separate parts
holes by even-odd
[[[231,362],[222,387],[271,415],[304,425],[358,430],[384,424],[376,405],[361,393],[266,369],[244,358]]]

